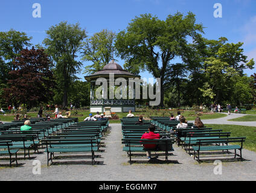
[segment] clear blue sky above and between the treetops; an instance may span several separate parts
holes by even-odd
[[[32,16],[34,3],[41,5],[40,18]],[[222,18],[214,17],[216,3],[222,4]],[[248,59],[256,59],[255,7],[255,0],[2,0],[0,31],[8,31],[10,28],[24,31],[33,37],[31,43],[42,44],[46,37],[45,30],[61,21],[68,21],[69,24],[78,22],[80,27],[86,29],[88,36],[92,36],[103,29],[118,33],[126,29],[135,16],[144,13],[151,13],[165,20],[168,14],[175,14],[177,11],[187,14],[192,11],[196,14],[196,22],[205,27],[204,37],[218,39],[223,36],[227,37],[229,42],[245,42],[243,48]],[[121,59],[118,61],[123,65]],[[256,73],[256,69],[245,72],[251,75]],[[83,76],[82,73],[78,74],[82,80]],[[147,72],[141,73],[141,76],[150,77]]]

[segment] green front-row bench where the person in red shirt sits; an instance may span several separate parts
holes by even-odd
[[[146,149],[142,145],[145,144],[155,144],[155,145],[165,145],[165,161],[168,161],[168,151],[172,149],[174,140],[173,139],[122,139],[123,151],[127,152],[129,156],[129,163],[132,164],[132,152],[146,152],[146,151],[164,151],[155,149]]]

